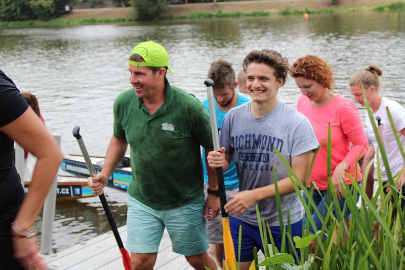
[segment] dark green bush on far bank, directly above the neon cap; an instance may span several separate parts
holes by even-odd
[[[160,19],[161,14],[169,7],[168,0],[132,0],[137,19],[140,21]]]

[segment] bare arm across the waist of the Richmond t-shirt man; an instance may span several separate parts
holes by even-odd
[[[308,151],[291,159],[291,166],[302,183],[305,183],[312,155],[312,151]],[[280,196],[286,196],[295,192],[294,185],[290,177],[278,180],[277,185]],[[258,201],[275,198],[275,195],[274,184],[255,188],[253,190],[240,191],[237,194],[230,196],[232,201],[225,205],[225,210],[230,215],[235,215],[237,217],[243,214]]]

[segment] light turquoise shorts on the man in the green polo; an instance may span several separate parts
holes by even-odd
[[[157,211],[128,195],[127,249],[131,253],[157,253],[165,227],[173,252],[193,256],[208,250],[205,201],[200,197],[178,208]]]

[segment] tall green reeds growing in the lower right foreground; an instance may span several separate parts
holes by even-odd
[[[373,119],[367,96],[365,94],[364,96],[367,113],[369,113],[370,118]],[[397,138],[401,156],[405,162],[405,152],[399,141],[398,133],[388,108],[387,113],[392,130]],[[274,245],[270,244],[272,242],[272,236],[269,226],[261,218],[260,212],[256,207],[265,257],[264,260],[259,262],[257,259],[257,249],[253,251],[256,269],[405,269],[404,209],[402,209],[400,205],[400,201],[405,200],[405,198],[401,196],[400,190],[395,188],[395,183],[398,181],[399,175],[392,175],[377,126],[373,121],[372,123],[378,142],[376,157],[378,188],[376,195],[369,200],[366,195],[366,183],[363,182],[359,184],[357,177],[349,177],[352,188],[349,189],[346,182],[343,181],[341,188],[346,202],[343,209],[340,209],[335,188],[331,183],[332,135],[329,127],[326,170],[328,175],[328,198],[333,198],[333,202],[327,205],[328,212],[324,215],[319,213],[315,203],[311,199],[313,192],[316,192],[316,187],[312,185],[311,188],[307,189],[307,185],[298,179],[290,164],[282,158],[280,153],[275,149],[278,157],[288,168],[288,174],[294,185],[296,194],[304,206],[305,221],[302,230],[303,237],[291,236],[291,222],[288,209],[288,223],[287,225],[283,225],[277,179],[275,172],[273,172],[277,205],[277,209],[274,209],[274,211],[278,212],[280,229],[283,236],[281,249],[278,250]],[[323,142],[321,142],[321,144],[322,143]],[[310,170],[312,169],[313,161],[320,145],[315,151]],[[380,156],[383,164],[379,162]],[[369,173],[372,163],[373,161],[367,165],[365,175]],[[382,182],[380,169],[382,165],[386,168],[388,183]],[[309,175],[310,172],[308,173],[307,181],[309,180]],[[365,177],[364,180],[367,181],[367,177]],[[391,186],[387,194],[383,192],[384,185]],[[361,197],[359,207],[357,206],[358,195]],[[305,197],[307,198],[307,202]],[[379,205],[378,200],[380,200]],[[392,216],[394,207],[397,208],[396,216]],[[333,208],[336,209],[335,215],[333,214]],[[348,222],[346,222],[344,217],[344,212],[347,209],[351,211],[351,217]],[[315,227],[315,222],[312,218],[313,213],[318,215],[322,227],[318,228],[315,234],[310,234],[310,226]],[[268,243],[268,239],[270,239],[270,243]],[[314,239],[316,239],[317,245],[313,251],[313,249],[310,249],[310,244]],[[296,250],[291,247],[300,249],[301,257],[299,257]],[[238,269],[236,262],[235,267],[232,268]],[[229,269],[229,267],[225,267],[224,269]]]

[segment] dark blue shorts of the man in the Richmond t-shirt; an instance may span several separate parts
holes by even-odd
[[[258,247],[263,250],[262,240],[260,238],[260,230],[258,226],[246,223],[240,219],[235,217],[229,217],[229,224],[231,229],[232,241],[233,246],[235,248],[235,255],[236,260],[238,260],[238,243],[239,243],[239,225],[242,226],[242,243],[240,247],[240,261],[252,261],[253,260],[253,248]],[[285,226],[287,229],[287,226]],[[302,236],[302,219],[298,222],[291,224],[291,236],[294,238],[295,236]],[[281,231],[279,226],[270,227],[271,236],[273,237],[274,243],[270,242],[270,237],[267,237],[267,242],[269,244],[274,244],[279,251],[281,251]],[[288,239],[286,237],[286,243]],[[289,249],[289,245],[286,245],[287,250]],[[301,258],[301,252],[299,249],[297,250],[298,259]],[[292,253],[292,252],[290,252]]]

